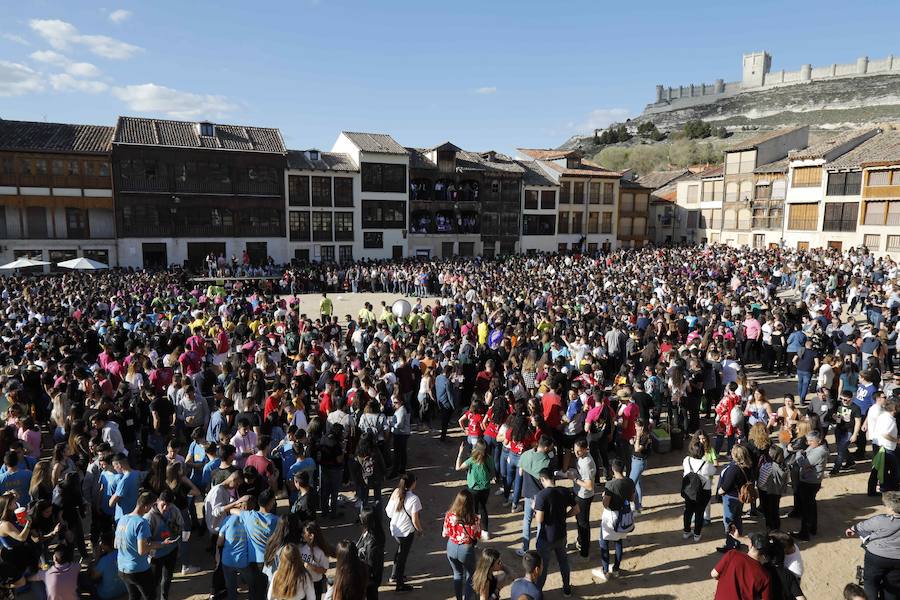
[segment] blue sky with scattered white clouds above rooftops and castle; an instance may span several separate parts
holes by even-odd
[[[748,7],[748,8],[743,8]],[[900,3],[0,0],[0,118],[120,114],[343,130],[407,146],[553,147],[638,114],[657,83],[900,54]],[[876,16],[873,18],[873,16]]]

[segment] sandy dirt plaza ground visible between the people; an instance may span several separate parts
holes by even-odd
[[[335,311],[341,320],[345,314],[356,314],[363,302],[375,306],[376,316],[380,312],[380,302],[390,305],[398,296],[391,294],[329,294],[334,300]],[[300,298],[301,311],[309,315],[318,314],[318,294]],[[434,300],[424,300],[425,304]],[[772,379],[751,372],[751,377],[764,384],[774,408],[781,406],[781,398],[796,389],[793,380]],[[704,420],[704,427],[711,431],[711,422]],[[412,549],[407,572],[409,582],[415,591],[397,594],[392,586],[384,585],[380,597],[386,599],[407,598],[438,600],[453,598],[451,570],[446,558],[446,540],[441,538],[441,520],[457,490],[465,485],[465,477],[452,470],[453,461],[462,434],[456,431],[453,440],[440,443],[437,436],[429,431],[416,431],[409,443],[409,464],[419,478],[417,493],[424,505],[423,523],[425,533],[418,538]],[[834,450],[831,436],[828,438]],[[701,599],[712,598],[715,582],[709,572],[720,558],[716,547],[723,540],[722,506],[713,505],[713,523],[704,529],[700,542],[684,541],[681,538],[682,500],[679,495],[681,483],[682,450],[665,454],[654,454],[649,459],[648,468],[642,477],[644,490],[644,510],[637,517],[636,529],[625,542],[625,558],[622,564],[623,576],[608,583],[597,584],[591,579],[590,571],[599,565],[599,547],[596,542],[599,528],[600,506],[595,502],[591,510],[592,537],[589,558],[581,558],[573,549],[575,541],[574,520],[569,525],[572,569],[573,597],[575,598],[652,598]],[[833,454],[832,454],[833,458]],[[862,564],[863,551],[859,540],[843,537],[844,530],[857,520],[871,516],[881,510],[878,498],[865,495],[866,479],[870,461],[857,462],[852,473],[826,478],[819,493],[819,534],[811,542],[801,543],[806,572],[802,587],[807,598],[837,598],[844,585],[854,580],[857,565]],[[564,485],[568,485],[565,483]],[[385,497],[390,493],[385,488]],[[345,497],[350,493],[345,492]],[[522,513],[511,514],[501,506],[502,497],[491,496],[490,513],[491,540],[482,542],[484,546],[501,551],[504,564],[510,566],[519,576],[521,560],[515,555],[520,546]],[[787,512],[792,498],[782,499],[782,513]],[[279,503],[279,510],[286,510],[286,503]],[[355,540],[359,531],[351,523],[353,508],[346,505],[344,518],[334,521],[324,520],[322,525],[328,539],[334,543],[342,539]],[[754,517],[745,518],[746,531],[762,531],[764,525]],[[794,519],[782,523],[785,530],[796,530],[799,522]],[[188,577],[178,576],[172,586],[173,598],[200,600],[209,591],[212,556],[203,549],[206,538],[194,536],[191,540],[190,557],[193,564],[203,570]],[[395,550],[393,540],[388,540],[385,557],[385,579],[390,573],[390,565]],[[550,576],[544,588],[545,597],[562,598],[559,568],[555,562],[549,566]],[[508,589],[503,598],[508,597]],[[253,599],[261,600],[261,599]]]

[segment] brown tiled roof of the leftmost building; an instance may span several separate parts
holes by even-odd
[[[0,150],[109,154],[113,128],[0,119]]]

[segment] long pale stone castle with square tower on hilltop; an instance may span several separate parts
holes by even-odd
[[[900,57],[890,55],[880,60],[863,56],[855,63],[832,64],[824,67],[803,65],[798,71],[772,71],[772,56],[768,52],[744,54],[740,81],[656,86],[656,101],[648,104],[644,115],[664,113],[682,108],[711,104],[744,92],[756,92],[778,87],[818,82],[836,78],[866,77],[871,75],[900,75]]]

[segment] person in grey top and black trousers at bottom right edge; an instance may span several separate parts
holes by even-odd
[[[865,548],[863,577],[866,594],[885,600],[900,598],[900,492],[885,492],[882,500],[890,511],[860,521],[847,529],[847,537],[858,537]]]

